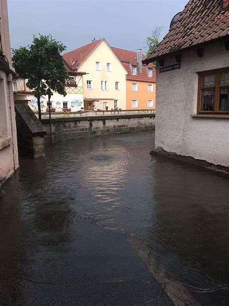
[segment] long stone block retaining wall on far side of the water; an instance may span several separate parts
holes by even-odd
[[[86,118],[55,118],[52,119],[52,140],[69,140],[82,137],[93,137],[143,131],[155,128],[155,114],[97,116]],[[45,143],[49,143],[49,120],[42,120],[47,131]]]

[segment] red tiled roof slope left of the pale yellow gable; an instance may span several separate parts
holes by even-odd
[[[71,66],[72,69],[77,69],[79,65],[88,57],[88,55],[100,44],[100,40],[96,40],[86,46],[67,52],[63,58]]]

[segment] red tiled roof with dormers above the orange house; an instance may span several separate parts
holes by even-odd
[[[122,62],[124,68],[127,70],[127,80],[133,80],[133,81],[146,81],[146,82],[156,82],[156,69],[155,66],[150,63],[148,65],[148,68],[153,68],[153,77],[149,77],[147,74],[147,66],[143,65],[143,73],[140,74],[139,67],[137,63],[137,52],[119,49],[112,47],[112,50],[115,52],[115,55],[119,59],[119,61]],[[142,60],[145,59],[145,55],[142,55]],[[137,66],[137,75],[132,75],[131,72],[131,65]]]

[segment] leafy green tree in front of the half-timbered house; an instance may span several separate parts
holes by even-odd
[[[41,121],[40,98],[48,91],[66,95],[65,85],[68,72],[65,68],[61,52],[66,49],[61,42],[51,35],[33,36],[30,46],[13,49],[13,65],[16,73],[27,79],[27,87],[37,98],[39,120]]]

